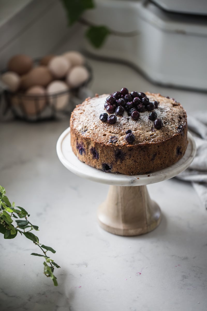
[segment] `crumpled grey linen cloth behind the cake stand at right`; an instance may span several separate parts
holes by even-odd
[[[188,116],[188,129],[196,142],[196,156],[191,165],[176,178],[192,182],[207,209],[207,112]]]

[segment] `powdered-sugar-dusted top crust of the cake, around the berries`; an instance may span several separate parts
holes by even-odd
[[[73,122],[76,128],[84,137],[90,138],[94,135],[103,144],[115,146],[126,145],[126,130],[131,129],[135,135],[135,144],[157,143],[172,137],[178,133],[178,126],[185,125],[186,114],[182,106],[172,99],[167,99],[160,94],[146,93],[150,101],[157,100],[160,106],[155,109],[157,118],[162,119],[164,126],[161,129],[154,128],[154,121],[149,120],[149,111],[140,113],[140,118],[134,121],[127,112],[123,116],[117,116],[115,124],[103,123],[99,119],[104,109],[105,100],[109,94],[86,100],[82,105],[74,109]],[[77,117],[76,117],[77,116]],[[116,139],[111,139],[116,137]]]

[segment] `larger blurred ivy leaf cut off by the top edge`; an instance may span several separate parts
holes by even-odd
[[[66,9],[69,25],[78,21],[83,12],[87,9],[93,9],[93,0],[61,0]]]

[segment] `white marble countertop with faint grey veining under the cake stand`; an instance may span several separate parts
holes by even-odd
[[[64,50],[64,47],[62,48]],[[176,98],[188,114],[205,109],[207,95],[152,85],[120,64],[89,59],[92,91],[123,86]],[[56,155],[69,120],[0,124],[0,184],[29,211],[39,240],[56,250],[58,287],[43,275],[35,245],[0,237],[0,310],[206,310],[207,211],[191,184],[170,179],[148,186],[163,217],[154,231],[121,237],[97,224],[109,186],[70,173]]]

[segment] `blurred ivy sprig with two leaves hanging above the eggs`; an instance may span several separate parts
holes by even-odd
[[[108,35],[116,35],[121,37],[132,37],[138,35],[136,30],[129,32],[115,31],[105,25],[95,25],[91,21],[86,21],[82,15],[86,10],[95,8],[93,0],[61,0],[61,2],[66,10],[69,26],[73,25],[77,21],[85,26],[88,26],[85,36],[92,46],[97,49],[104,44]]]

